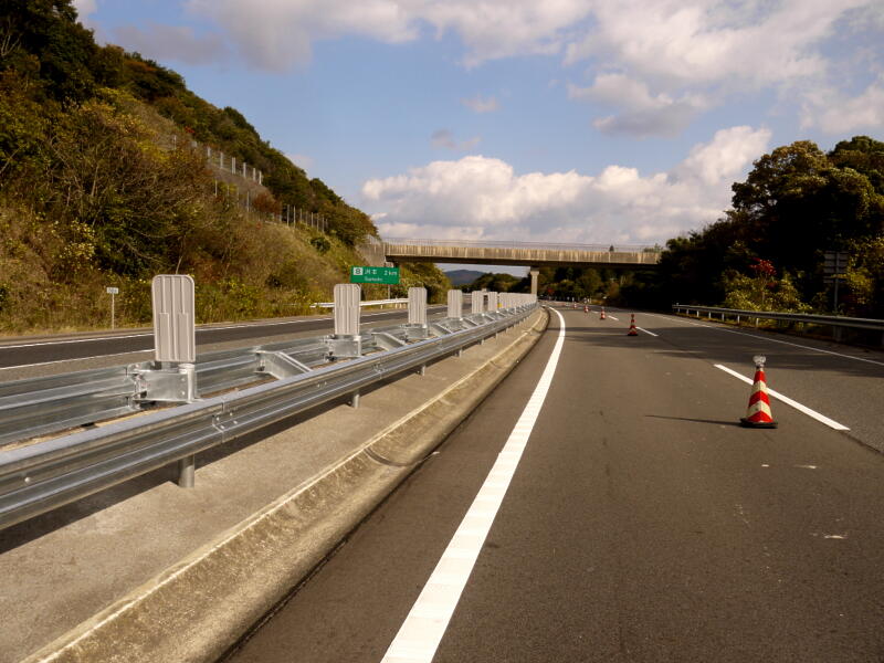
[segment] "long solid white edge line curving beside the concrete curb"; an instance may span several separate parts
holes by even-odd
[[[552,382],[565,343],[565,318],[552,312],[561,327],[540,380],[382,663],[430,663],[439,649]]]

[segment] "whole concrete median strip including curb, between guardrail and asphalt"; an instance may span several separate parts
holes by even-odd
[[[304,579],[535,345],[514,330],[0,532],[0,663],[209,662]]]

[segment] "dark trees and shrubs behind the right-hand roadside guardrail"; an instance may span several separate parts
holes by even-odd
[[[732,208],[666,242],[660,269],[540,270],[540,293],[669,309],[674,303],[750,311],[831,313],[824,253],[848,254],[838,313],[884,317],[884,143],[807,140],[778,147],[735,182]],[[512,286],[524,292],[527,280]]]

